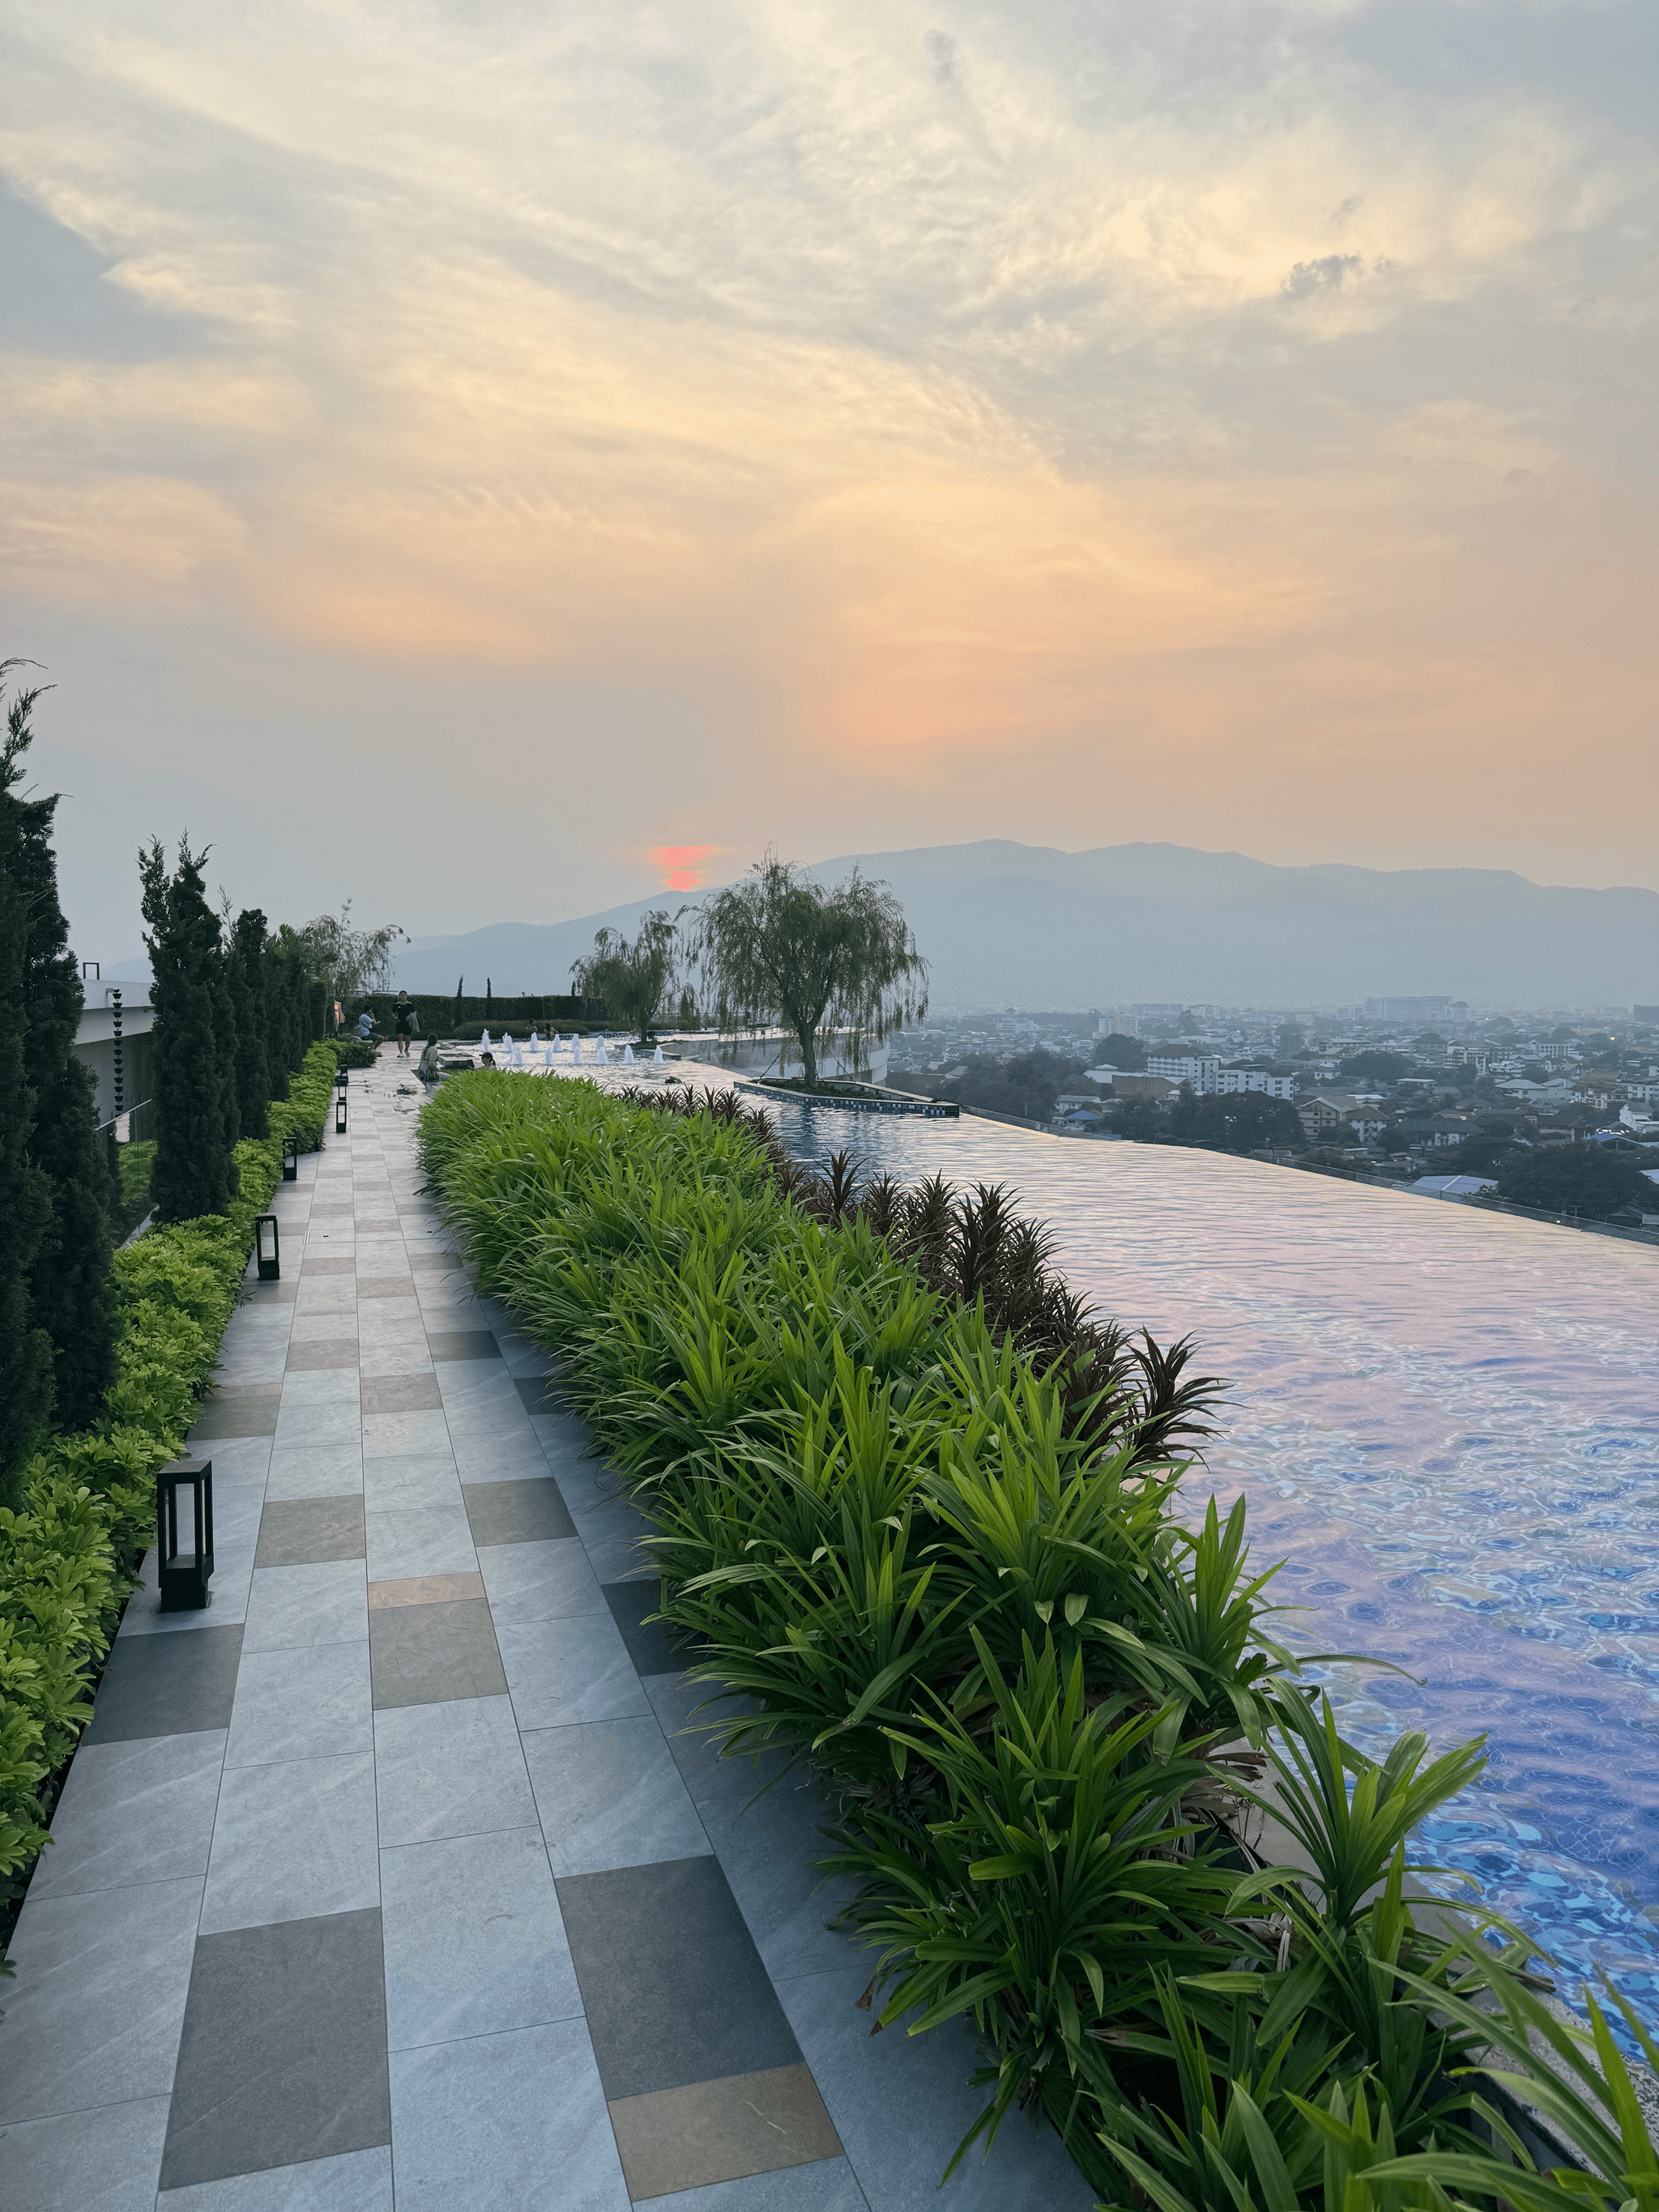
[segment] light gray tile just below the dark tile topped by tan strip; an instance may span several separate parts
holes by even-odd
[[[387,1849],[535,1823],[504,1697],[383,1708],[374,1714],[374,1770]]]

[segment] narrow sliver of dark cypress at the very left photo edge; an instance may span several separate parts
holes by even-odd
[[[35,1099],[24,1068],[24,905],[0,854],[0,1504],[22,1502],[22,1469],[51,1416],[51,1338],[33,1325],[29,1267],[51,1223],[51,1188],[29,1161]]]

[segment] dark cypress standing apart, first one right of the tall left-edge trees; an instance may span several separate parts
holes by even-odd
[[[139,854],[144,938],[155,978],[153,1095],[155,1170],[150,1194],[164,1221],[221,1214],[230,1203],[223,1077],[215,1035],[219,918],[208,905],[201,860],[179,838],[168,876],[161,838]]]

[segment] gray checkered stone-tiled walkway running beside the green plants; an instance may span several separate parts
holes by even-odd
[[[686,1734],[639,1517],[471,1296],[383,1055],[226,1336],[208,1613],[135,1595],[0,1982],[7,2212],[1082,2212],[872,2039],[825,1807]],[[159,2192],[159,2194],[157,2194]]]

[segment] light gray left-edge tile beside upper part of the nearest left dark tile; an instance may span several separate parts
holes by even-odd
[[[166,2097],[201,1882],[24,1898],[0,2020],[0,2124]]]

